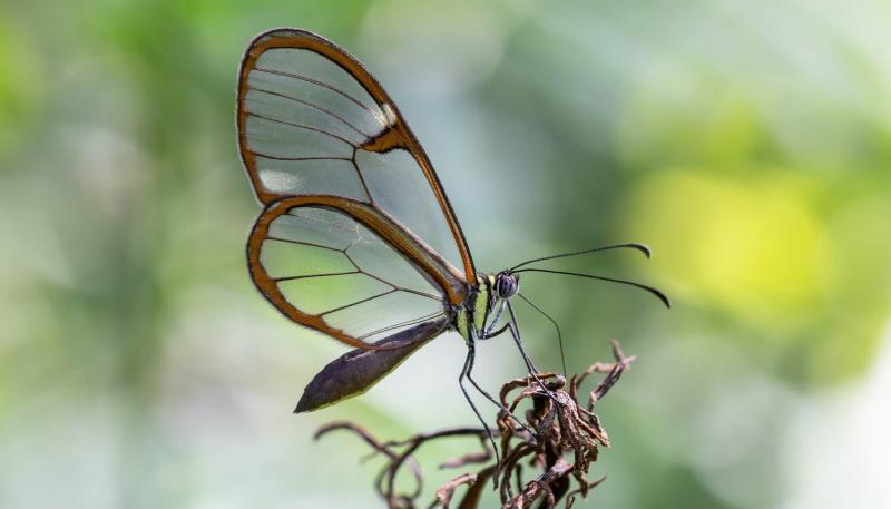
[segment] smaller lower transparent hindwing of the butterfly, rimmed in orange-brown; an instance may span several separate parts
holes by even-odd
[[[459,283],[388,221],[344,198],[274,202],[248,239],[254,283],[286,316],[358,348],[446,316],[443,285]]]

